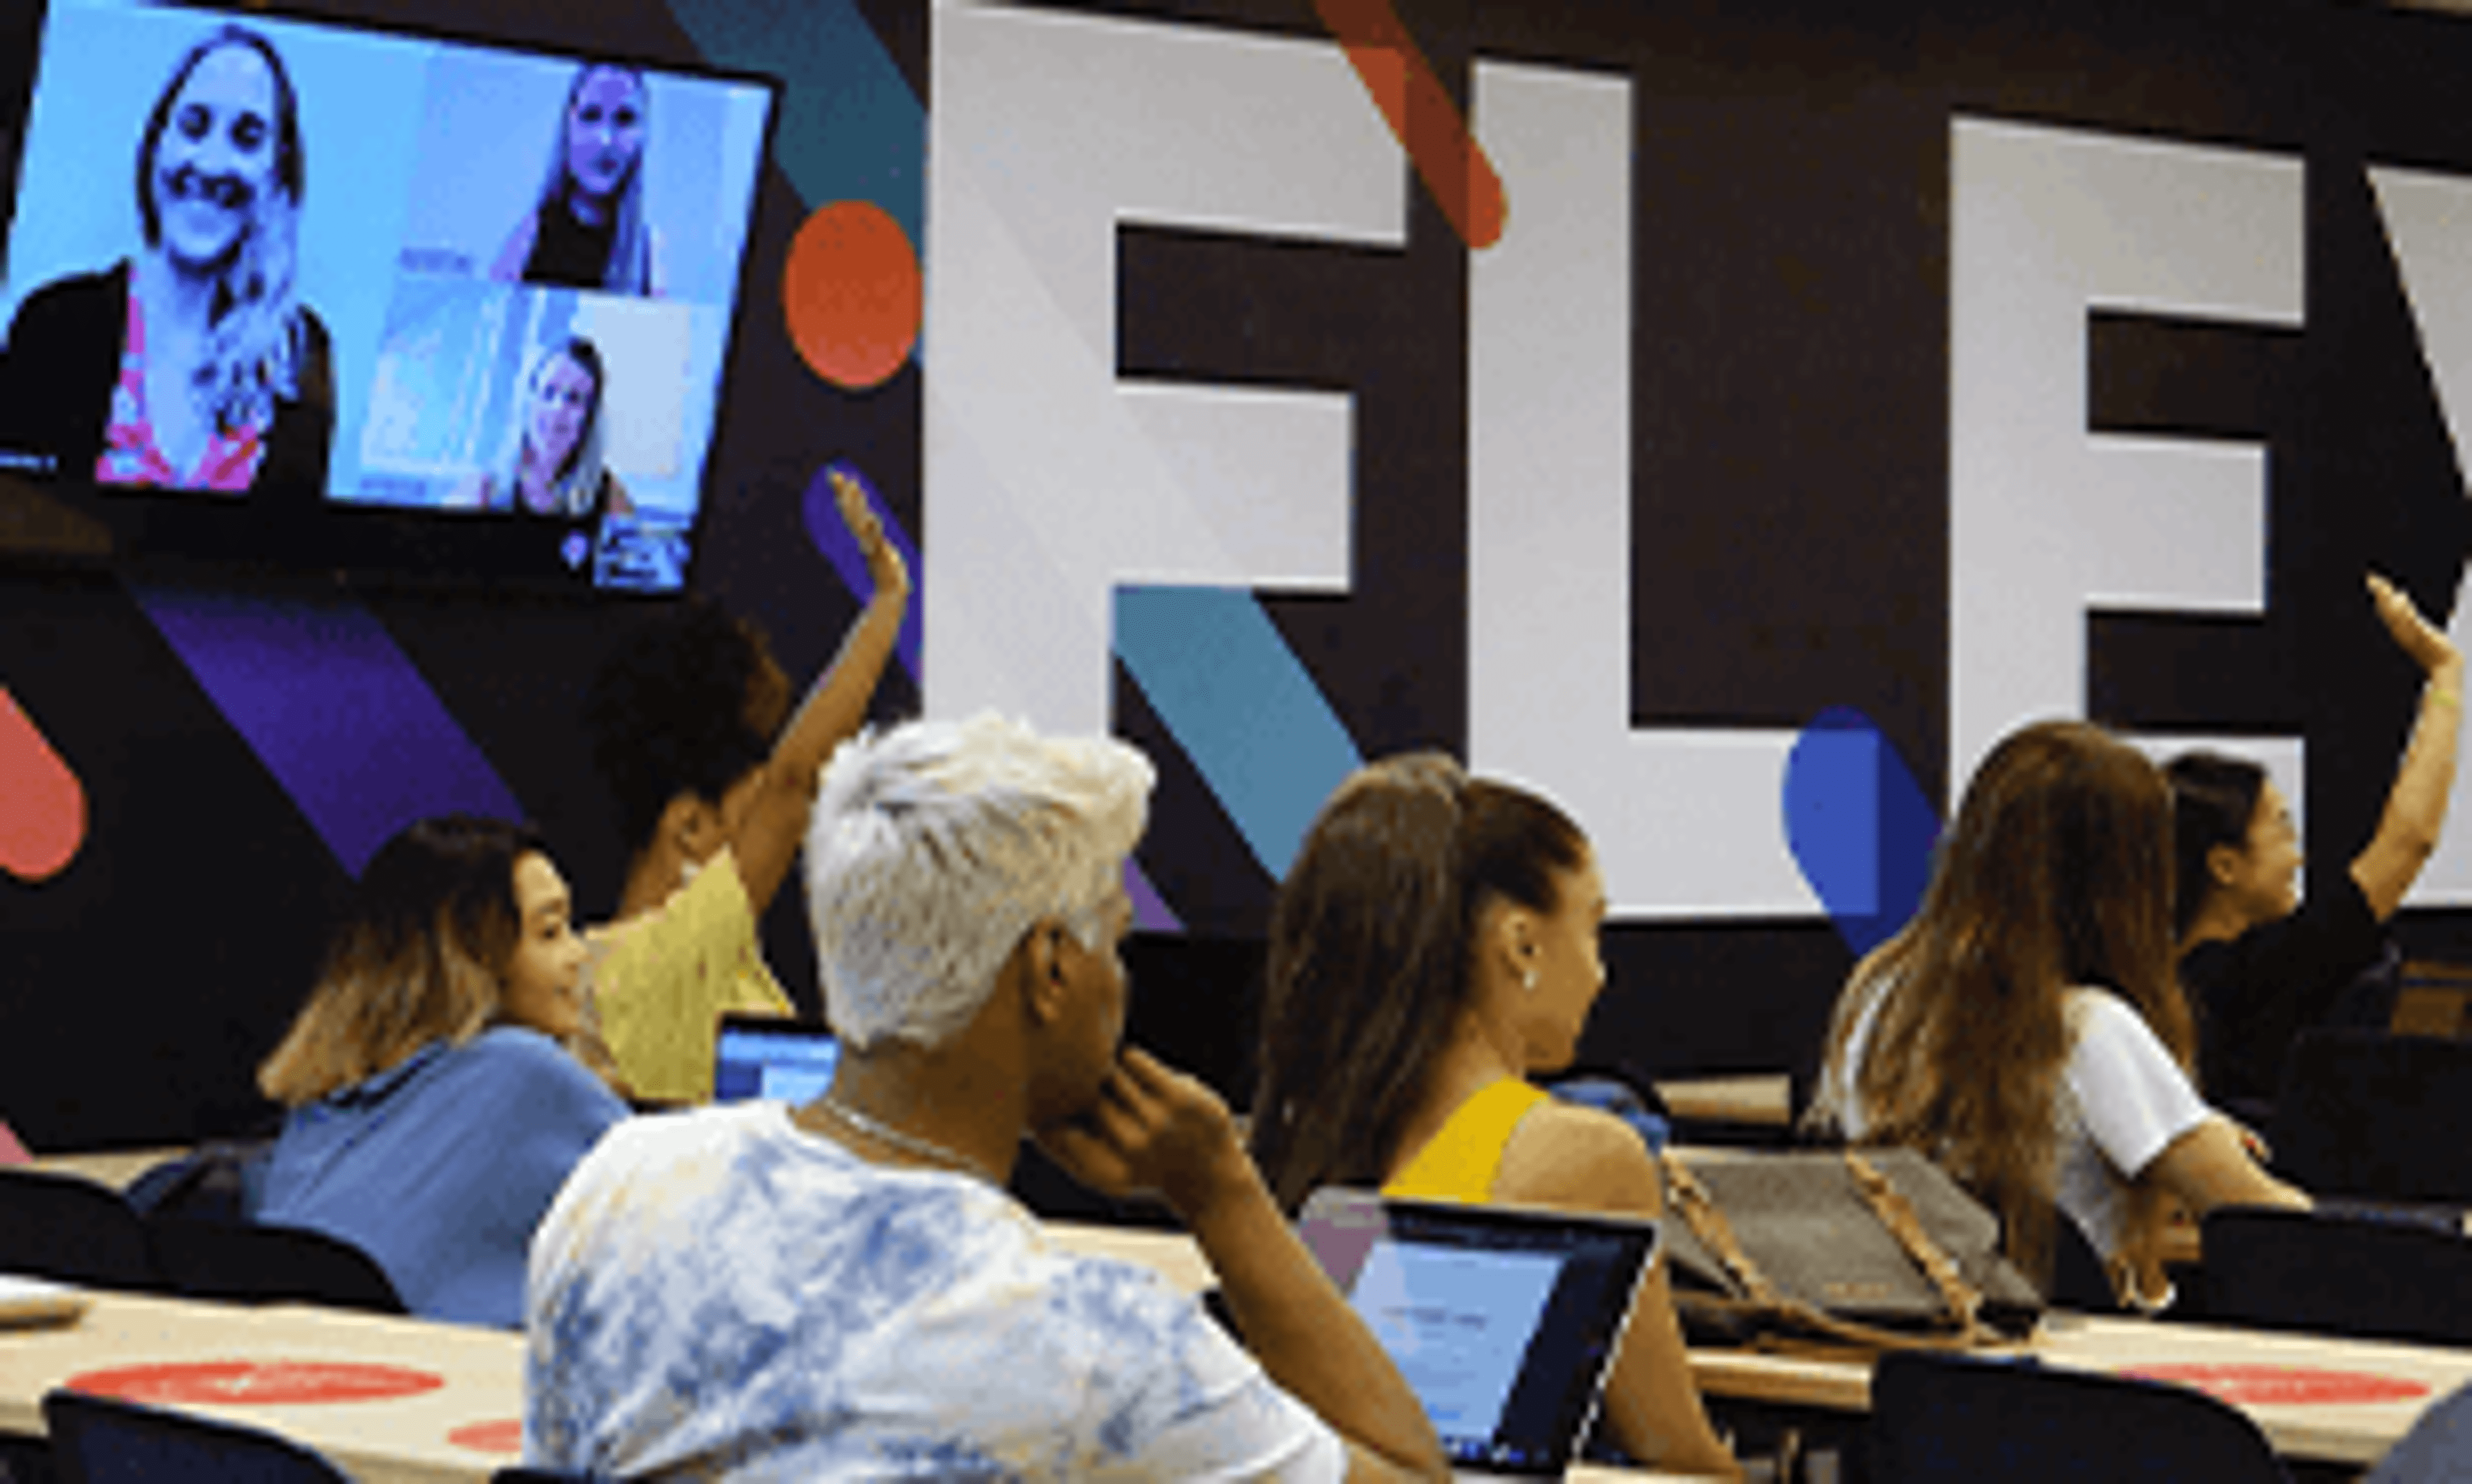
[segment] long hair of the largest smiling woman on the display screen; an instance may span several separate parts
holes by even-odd
[[[146,247],[163,242],[163,205],[156,200],[153,165],[171,128],[173,104],[198,64],[225,47],[245,47],[274,79],[274,188],[250,200],[247,227],[232,262],[215,274],[208,299],[208,333],[198,365],[188,368],[190,395],[222,432],[267,427],[274,402],[299,398],[307,328],[299,306],[299,212],[307,185],[299,96],[274,42],[242,25],[220,25],[183,52],[171,81],[156,96],[138,138],[138,222]]]

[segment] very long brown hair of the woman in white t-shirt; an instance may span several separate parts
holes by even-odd
[[[1827,1064],[1837,1094],[1859,1099],[1864,1141],[1921,1148],[1973,1185],[2027,1272],[2052,1262],[2067,990],[2116,993],[2183,1069],[2195,1057],[2170,899],[2170,790],[2156,765],[2099,726],[2034,723],[1983,758],[1921,911],[1837,1000]],[[1874,1000],[1864,1062],[1844,1067]],[[2151,1240],[2158,1217],[2141,1200],[2131,1242]]]

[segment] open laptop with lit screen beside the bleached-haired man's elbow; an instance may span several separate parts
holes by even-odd
[[[1560,1479],[1656,1222],[1315,1190],[1298,1235],[1424,1403],[1458,1479]]]

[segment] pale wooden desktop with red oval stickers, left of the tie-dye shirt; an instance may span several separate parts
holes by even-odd
[[[435,1390],[388,1400],[294,1405],[183,1405],[180,1410],[282,1432],[376,1484],[487,1482],[512,1449],[450,1440],[472,1425],[512,1425],[524,1405],[524,1336],[514,1331],[344,1314],[314,1306],[240,1309],[190,1299],[94,1291],[72,1326],[0,1331],[0,1432],[42,1437],[42,1393],[72,1375],[180,1361],[351,1361],[428,1370]]]

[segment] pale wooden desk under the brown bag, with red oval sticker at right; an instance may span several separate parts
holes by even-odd
[[[2418,1380],[2425,1398],[2400,1403],[2242,1405],[2274,1452],[2334,1464],[2373,1464],[2428,1407],[2472,1383],[2472,1351],[2348,1341],[2334,1336],[2153,1324],[2104,1314],[2052,1314],[2042,1333],[1997,1353],[2034,1356],[2047,1365],[2136,1370],[2146,1365],[2309,1365],[2395,1380]],[[1691,1351],[1701,1390],[1721,1398],[1777,1403],[1827,1412],[1871,1407],[1869,1361],[1814,1361],[1748,1351]]]

